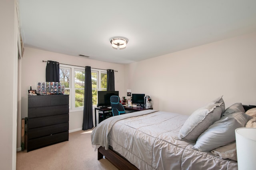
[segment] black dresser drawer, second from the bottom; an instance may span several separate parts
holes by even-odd
[[[66,131],[68,131],[68,122],[51,126],[44,126],[41,128],[34,128],[28,130],[28,139],[38,138]]]

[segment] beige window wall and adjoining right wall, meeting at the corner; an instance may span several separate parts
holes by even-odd
[[[30,85],[35,87],[37,81],[45,80],[46,63],[42,60],[118,70],[115,80],[120,96],[126,96],[127,89],[145,93],[152,98],[156,110],[189,115],[221,95],[226,107],[234,102],[256,104],[252,95],[256,92],[253,44],[256,44],[256,33],[127,65],[26,47],[22,59],[22,118],[27,116]],[[82,111],[70,112],[70,131],[81,127]]]

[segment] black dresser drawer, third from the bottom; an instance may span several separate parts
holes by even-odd
[[[28,118],[28,130],[68,122],[68,113],[39,118]]]

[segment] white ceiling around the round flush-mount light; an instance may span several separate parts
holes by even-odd
[[[256,30],[256,0],[19,1],[25,46],[121,64]]]

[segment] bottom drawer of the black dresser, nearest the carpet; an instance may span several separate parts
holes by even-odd
[[[44,136],[40,138],[34,138],[31,140],[28,140],[28,152],[31,150],[35,150],[38,148],[42,148],[44,146],[49,146],[52,144],[56,144],[59,142],[64,142],[68,140],[68,132],[62,132],[58,134],[53,134],[49,136]]]

